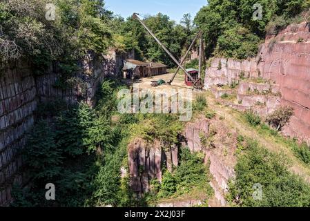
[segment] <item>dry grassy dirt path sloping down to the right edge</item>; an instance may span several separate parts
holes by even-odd
[[[231,128],[235,128],[239,131],[240,134],[246,137],[252,137],[254,140],[257,140],[262,146],[265,146],[270,151],[274,153],[284,153],[292,163],[290,170],[293,173],[296,173],[304,178],[307,182],[310,183],[310,168],[309,166],[302,163],[298,158],[293,154],[293,152],[287,147],[282,144],[278,144],[276,139],[273,137],[264,136],[258,131],[255,131],[249,125],[244,124],[240,120],[240,113],[237,111],[233,111],[230,107],[217,105],[217,101],[213,96],[208,96],[209,106],[213,108],[214,111],[218,115],[222,115],[225,117],[225,121]]]

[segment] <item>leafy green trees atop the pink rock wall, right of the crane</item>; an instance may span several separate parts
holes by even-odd
[[[253,8],[255,5],[262,7],[262,19],[253,19],[255,10],[260,9]],[[207,56],[211,57],[216,48],[217,56],[244,59],[256,54],[260,40],[266,35],[267,25],[275,17],[284,17],[287,21],[281,25],[284,28],[309,6],[309,0],[209,0],[208,6],[197,13],[194,23],[204,32]],[[246,30],[246,35],[238,33],[240,30]]]

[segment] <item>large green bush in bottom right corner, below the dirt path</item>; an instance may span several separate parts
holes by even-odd
[[[288,170],[283,155],[270,153],[257,142],[249,142],[235,166],[235,180],[227,199],[242,207],[302,207],[310,205],[310,186]],[[254,184],[262,186],[262,199],[254,200]]]

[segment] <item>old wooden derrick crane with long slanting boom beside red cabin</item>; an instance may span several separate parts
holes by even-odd
[[[202,71],[202,32],[198,32],[198,34],[196,35],[195,39],[193,40],[191,46],[188,48],[188,50],[186,51],[186,55],[183,57],[181,63],[179,61],[177,61],[177,59],[171,54],[171,52],[166,48],[166,46],[164,46],[164,44],[162,44],[161,41],[159,41],[159,39],[157,39],[157,37],[153,34],[153,32],[146,26],[146,24],[139,19],[138,17],[139,14],[137,13],[133,13],[133,19],[137,19],[137,21],[139,21],[139,23],[142,24],[142,26],[148,31],[148,33],[155,39],[155,41],[157,42],[157,44],[159,44],[159,46],[161,46],[164,51],[171,57],[171,59],[173,59],[173,61],[175,62],[175,64],[177,64],[178,68],[177,71],[175,72],[175,74],[173,75],[173,77],[171,78],[170,81],[168,81],[168,84],[171,84],[173,82],[173,80],[175,79],[175,76],[177,75],[177,73],[179,72],[179,70],[182,70],[189,79],[191,79],[191,81],[193,82],[194,88],[195,89],[199,89],[202,90],[203,86],[202,86],[202,79],[201,79],[201,71]],[[197,41],[198,37],[200,37],[200,71],[199,71],[199,79],[195,80],[193,79],[193,77],[186,71],[186,68],[184,68],[183,64],[184,61],[186,60],[186,57],[188,56],[189,52],[191,52],[191,49],[193,48],[193,46],[195,45],[195,42]]]

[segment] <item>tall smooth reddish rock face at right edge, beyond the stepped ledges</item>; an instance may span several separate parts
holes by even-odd
[[[281,104],[295,110],[284,133],[310,142],[309,23],[288,26],[276,37],[267,38],[261,55],[263,77],[280,85]]]

